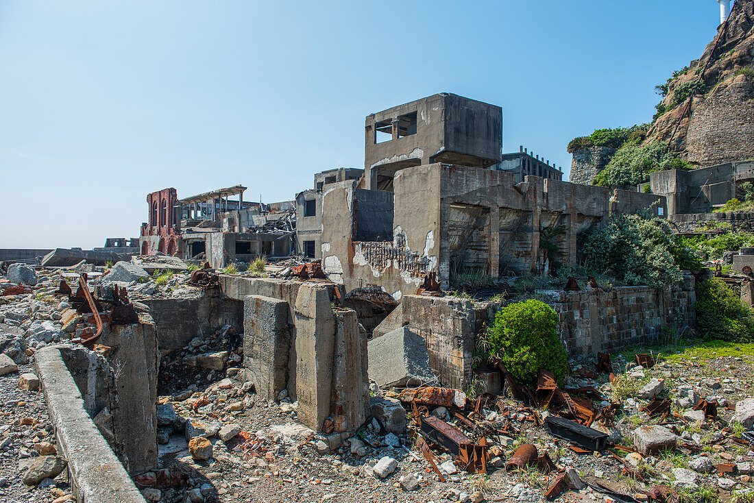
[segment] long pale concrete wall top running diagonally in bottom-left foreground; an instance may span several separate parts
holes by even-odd
[[[146,503],[84,409],[81,391],[63,362],[60,349],[55,346],[39,349],[34,365],[48,404],[58,452],[68,460],[76,501]]]

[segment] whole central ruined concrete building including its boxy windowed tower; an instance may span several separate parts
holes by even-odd
[[[546,273],[555,257],[540,247],[543,230],[558,229],[559,262],[573,264],[578,235],[610,214],[664,215],[662,197],[562,182],[538,158],[532,171],[545,176],[532,176],[523,149],[509,157],[526,167],[501,170],[501,124],[499,107],[453,94],[368,115],[363,182],[299,195],[299,239],[347,291],[379,287],[400,299],[431,274],[449,288],[468,271]]]

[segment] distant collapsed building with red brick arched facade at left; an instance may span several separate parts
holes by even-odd
[[[176,189],[147,195],[142,254],[206,259],[214,268],[259,256],[288,256],[296,225],[293,201],[244,201],[246,189],[238,185],[180,200]]]

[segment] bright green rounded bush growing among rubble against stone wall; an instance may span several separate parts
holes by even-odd
[[[499,357],[520,382],[534,382],[539,369],[550,370],[561,381],[568,366],[557,327],[557,313],[544,302],[514,302],[495,315],[479,351],[488,360]]]

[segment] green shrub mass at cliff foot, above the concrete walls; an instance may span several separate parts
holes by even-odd
[[[662,142],[646,145],[624,143],[600,171],[593,184],[603,187],[635,187],[649,181],[649,173],[663,170],[688,170],[691,164],[682,161]]]

